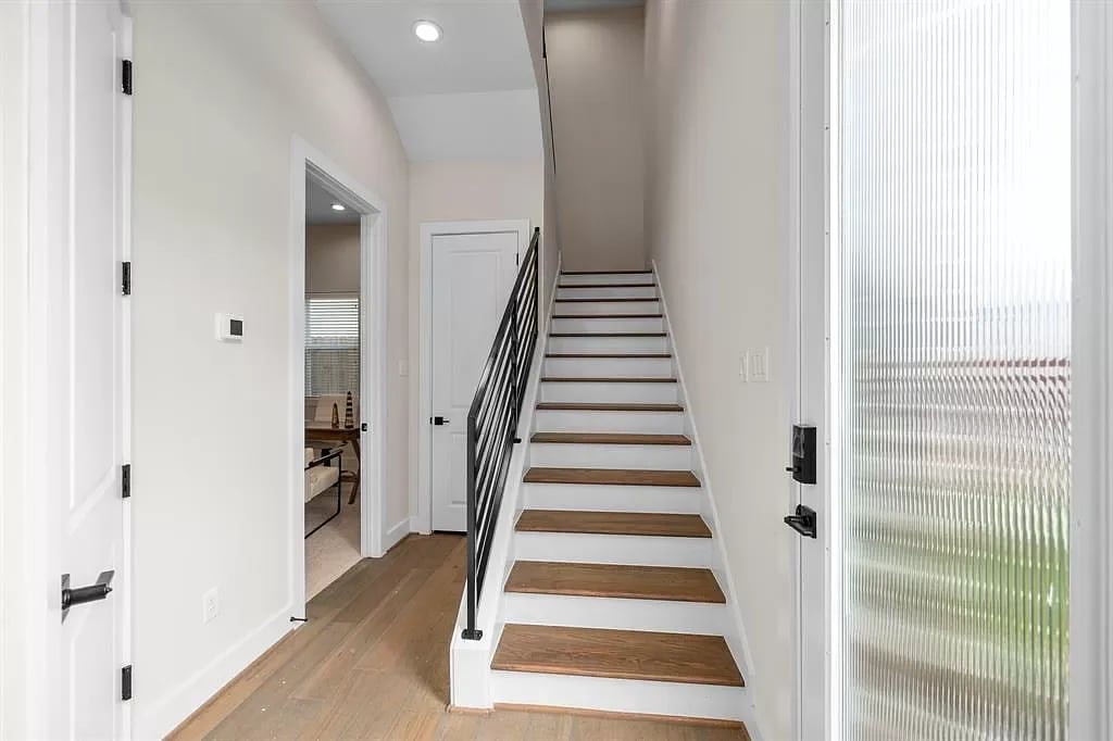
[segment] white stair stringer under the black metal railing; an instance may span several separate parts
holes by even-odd
[[[514,523],[522,512],[522,481],[530,468],[530,438],[536,428],[536,406],[541,394],[541,375],[544,372],[545,354],[549,352],[549,325],[551,322],[556,285],[560,283],[560,256],[558,255],[556,275],[552,290],[549,294],[549,306],[543,314],[538,344],[533,349],[530,375],[525,385],[525,396],[522,399],[522,412],[518,419],[518,434],[522,442],[515,445],[506,471],[506,487],[502,493],[502,504],[499,520],[495,523],[494,539],[491,543],[491,554],[487,557],[487,572],[480,594],[475,612],[476,628],[483,632],[479,641],[464,640],[462,633],[467,624],[467,592],[460,597],[456,610],[456,623],[452,632],[449,648],[449,683],[450,702],[453,708],[472,708],[490,710],[493,708],[491,698],[491,658],[499,645],[502,634],[502,623],[498,621],[503,586],[510,576],[514,564]]]

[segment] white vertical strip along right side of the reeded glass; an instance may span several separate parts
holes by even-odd
[[[1072,2],[1071,738],[1113,738],[1113,8]]]

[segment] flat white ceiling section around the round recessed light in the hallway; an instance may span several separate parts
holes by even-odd
[[[316,0],[387,98],[535,87],[519,0]],[[444,31],[418,41],[414,21]]]

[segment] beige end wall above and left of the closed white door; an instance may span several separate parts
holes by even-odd
[[[427,221],[529,219],[540,227],[543,214],[542,159],[413,162],[410,166],[410,374],[412,416],[418,418],[421,387],[421,276],[424,249],[421,225]],[[492,337],[492,340],[494,338]],[[420,508],[417,435],[411,434],[411,511]],[[429,523],[417,523],[424,528]]]

